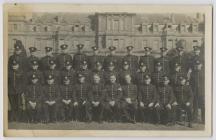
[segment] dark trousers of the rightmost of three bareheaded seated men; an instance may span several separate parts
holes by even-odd
[[[122,102],[122,111],[123,117],[127,120],[135,120],[135,115],[137,112],[137,102],[133,102],[131,104],[127,102]]]

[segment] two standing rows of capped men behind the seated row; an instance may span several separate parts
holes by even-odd
[[[158,87],[163,82],[164,75],[170,79],[170,85],[175,87],[178,85],[179,77],[184,77],[188,84],[192,86],[194,92],[193,110],[194,118],[196,119],[198,114],[198,108],[202,108],[204,112],[204,61],[200,55],[200,47],[194,46],[194,55],[190,58],[185,55],[184,47],[177,46],[177,55],[169,58],[167,56],[167,48],[161,48],[161,56],[154,58],[151,55],[151,48],[144,48],[144,55],[141,57],[132,54],[133,46],[127,47],[127,55],[120,57],[115,55],[116,47],[109,47],[110,54],[108,56],[100,56],[97,47],[92,47],[94,54],[87,56],[82,52],[84,45],[78,44],[78,52],[73,56],[68,54],[68,45],[63,44],[60,46],[62,53],[58,56],[53,55],[51,47],[46,47],[46,56],[39,59],[36,57],[37,48],[30,47],[30,56],[27,58],[24,52],[24,47],[20,41],[17,41],[14,45],[14,55],[9,58],[9,82],[13,81],[10,78],[10,71],[15,64],[20,65],[20,72],[26,72],[26,76],[21,81],[16,83],[9,83],[14,88],[14,84],[28,83],[31,76],[35,74],[42,84],[46,79],[49,79],[50,75],[53,75],[55,82],[61,84],[65,76],[68,76],[71,83],[77,83],[79,74],[84,75],[87,82],[91,83],[92,75],[100,75],[101,81],[106,85],[110,82],[110,76],[115,75],[118,83],[125,84],[125,75],[131,75],[132,82],[136,85],[143,85],[145,82],[145,76],[149,75],[152,79],[152,83]],[[73,69],[72,69],[73,68]],[[40,71],[39,71],[40,70]],[[41,72],[42,71],[42,72]],[[20,74],[16,74],[19,76]],[[18,78],[19,79],[19,78]],[[24,82],[24,81],[25,82]],[[17,86],[18,87],[18,86]],[[22,87],[22,86],[20,86]],[[10,99],[9,100],[13,100]],[[11,101],[14,102],[14,101]],[[202,115],[204,116],[204,114]],[[203,117],[204,118],[204,117]]]

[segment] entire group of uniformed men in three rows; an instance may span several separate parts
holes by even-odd
[[[14,44],[14,54],[9,58],[8,97],[9,120],[28,122],[55,121],[136,121],[172,125],[185,113],[188,126],[196,121],[204,108],[204,62],[199,46],[194,55],[186,57],[183,46],[177,46],[169,58],[167,48],[154,58],[151,48],[144,48],[141,57],[132,54],[100,56],[82,52],[68,54],[68,45],[60,46],[62,53],[53,55],[45,47],[46,56],[36,57],[37,48],[30,47],[27,57],[22,42]]]

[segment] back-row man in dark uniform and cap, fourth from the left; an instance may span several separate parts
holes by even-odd
[[[72,57],[68,54],[68,45],[62,44],[60,46],[62,53],[57,56],[56,63],[59,70],[65,67],[65,62],[72,62]]]

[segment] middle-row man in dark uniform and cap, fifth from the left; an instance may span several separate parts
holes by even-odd
[[[78,74],[84,75],[85,76],[85,81],[87,83],[91,82],[91,76],[92,76],[91,74],[92,74],[92,72],[91,72],[91,70],[88,69],[88,63],[87,63],[86,60],[82,61],[81,65],[80,65],[80,69],[79,69],[79,71],[77,71],[77,75]]]

